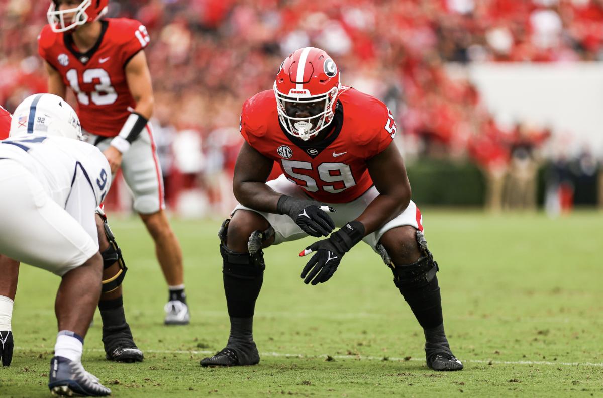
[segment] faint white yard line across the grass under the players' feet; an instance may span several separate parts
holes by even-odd
[[[45,352],[48,350],[36,348],[36,349],[26,349],[24,347],[14,347],[15,350],[24,350],[24,351],[34,351],[34,352]],[[102,349],[84,349],[87,352],[105,352]],[[208,350],[144,350],[145,353],[153,353],[153,354],[176,354],[176,355],[212,355],[215,351]],[[288,353],[280,353],[280,352],[260,352],[260,356],[273,356],[276,358],[327,358],[327,355],[302,355],[302,354],[288,354]],[[330,355],[331,358],[335,359],[359,359],[364,361],[384,361],[384,356],[364,356],[364,355]],[[425,362],[425,358],[397,358],[393,356],[386,356],[387,361],[419,361]],[[556,361],[494,361],[490,359],[463,359],[464,363],[470,364],[492,364],[492,365],[557,365],[557,366],[591,366],[591,367],[603,367],[603,362],[601,363],[593,363],[593,362],[556,362]]]

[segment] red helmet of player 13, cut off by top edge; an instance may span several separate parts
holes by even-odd
[[[109,0],[84,0],[75,8],[59,10],[58,2],[52,0],[48,11],[46,11],[46,17],[53,31],[57,33],[66,32],[88,22],[96,21],[107,13],[108,7]],[[66,25],[65,16],[69,14],[74,15],[71,18],[71,22],[68,22],[68,25]]]

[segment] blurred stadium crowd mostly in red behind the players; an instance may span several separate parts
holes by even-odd
[[[0,104],[8,110],[45,90],[36,37],[47,7],[0,2]],[[168,203],[175,187],[200,186],[221,212],[232,206],[242,101],[271,89],[294,49],[325,49],[344,84],[384,100],[409,159],[472,159],[493,208],[533,206],[531,198],[505,199],[503,185],[514,178],[532,191],[549,131],[497,125],[476,87],[450,78],[445,65],[603,60],[603,0],[120,0],[109,16],[133,17],[150,32]],[[558,179],[559,169],[551,169]]]

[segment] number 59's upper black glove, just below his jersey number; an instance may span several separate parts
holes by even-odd
[[[326,213],[335,209],[315,200],[292,198],[283,195],[279,198],[276,209],[280,214],[288,214],[303,232],[311,236],[329,236],[335,223]]]

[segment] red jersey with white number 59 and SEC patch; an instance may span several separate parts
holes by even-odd
[[[245,141],[279,163],[289,181],[315,200],[345,203],[373,186],[366,162],[393,142],[396,122],[378,99],[344,88],[332,126],[332,132],[320,141],[303,141],[285,133],[273,90],[247,99],[241,113]]]

